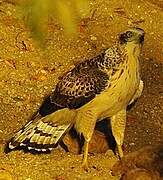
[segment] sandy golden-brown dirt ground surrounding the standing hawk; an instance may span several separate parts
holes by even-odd
[[[163,1],[95,0],[90,16],[79,24],[77,38],[49,23],[44,50],[35,45],[13,4],[0,1],[0,179],[119,179],[110,169],[112,151],[89,155],[89,171],[81,155],[56,148],[50,154],[4,153],[6,142],[39,108],[57,79],[76,62],[109,47],[130,26],[145,30],[141,68],[144,91],[129,110],[124,152],[161,144],[163,137]]]

